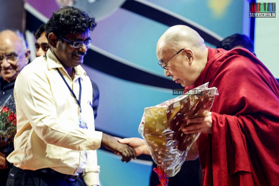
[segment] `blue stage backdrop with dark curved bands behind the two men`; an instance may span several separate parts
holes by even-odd
[[[61,0],[26,0],[27,37],[45,23]],[[243,23],[238,0],[77,0],[69,5],[96,17],[97,27],[82,65],[100,89],[96,130],[119,137],[139,137],[138,126],[145,107],[173,98],[182,88],[164,77],[157,64],[158,38],[172,25],[196,29],[206,44],[215,47],[222,38],[250,28]],[[247,19],[246,19],[247,20]],[[243,25],[247,28],[244,28]],[[32,48],[31,48],[32,49]],[[33,50],[33,49],[32,49]],[[34,54],[34,51],[32,51]],[[151,158],[122,163],[120,157],[97,150],[103,186],[144,186],[149,183]]]

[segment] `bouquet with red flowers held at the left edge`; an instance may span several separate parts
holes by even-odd
[[[15,99],[10,95],[0,107],[0,149],[3,153],[13,150],[16,133]]]

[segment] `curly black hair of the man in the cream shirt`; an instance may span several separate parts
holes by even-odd
[[[47,21],[46,37],[53,32],[58,38],[65,34],[93,31],[96,27],[95,17],[90,17],[85,11],[76,7],[63,7],[53,13]]]

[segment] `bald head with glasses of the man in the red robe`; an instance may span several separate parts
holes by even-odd
[[[167,29],[158,40],[156,52],[165,76],[184,87],[194,84],[206,65],[208,55],[203,38],[184,25]]]

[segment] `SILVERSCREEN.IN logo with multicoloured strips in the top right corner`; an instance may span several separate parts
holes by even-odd
[[[276,3],[249,2],[249,17],[276,17]]]

